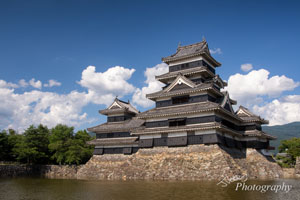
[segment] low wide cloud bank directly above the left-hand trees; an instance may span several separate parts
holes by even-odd
[[[33,90],[16,93],[1,88],[0,127],[24,130],[30,124],[53,127],[58,123],[79,126],[87,122],[87,114],[81,113],[88,102],[86,93],[72,91],[67,95]]]

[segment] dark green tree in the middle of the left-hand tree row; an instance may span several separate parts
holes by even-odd
[[[17,160],[27,164],[44,164],[48,162],[49,130],[46,126],[31,125],[24,132],[22,140],[16,144],[14,153]]]

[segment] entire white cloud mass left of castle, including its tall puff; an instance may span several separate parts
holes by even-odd
[[[11,84],[0,80],[0,129],[14,128],[23,131],[31,124],[40,123],[53,127],[59,123],[79,127],[93,121],[83,112],[83,107],[90,103],[112,103],[116,95],[127,95],[134,92],[133,85],[127,82],[134,69],[112,67],[105,72],[96,72],[96,68],[89,66],[82,72],[78,82],[87,91],[71,91],[68,94],[31,90],[18,93]],[[28,85],[41,89],[41,81],[31,79],[19,81],[20,87]],[[47,87],[58,85],[51,81]]]

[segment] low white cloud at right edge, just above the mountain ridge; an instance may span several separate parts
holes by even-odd
[[[300,95],[275,99],[263,106],[255,105],[253,111],[268,119],[270,125],[300,121]]]

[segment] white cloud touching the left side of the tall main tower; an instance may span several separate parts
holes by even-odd
[[[168,65],[165,63],[158,64],[154,67],[147,68],[144,75],[147,78],[145,83],[147,86],[142,89],[137,88],[132,96],[133,103],[144,108],[154,105],[154,102],[146,98],[146,94],[157,92],[164,86],[163,83],[156,81],[155,76],[167,73]]]

